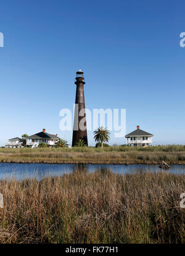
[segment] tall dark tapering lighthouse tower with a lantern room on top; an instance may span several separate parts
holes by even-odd
[[[83,85],[84,77],[83,71],[78,70],[76,72],[76,98],[75,98],[75,115],[73,124],[73,141],[72,147],[80,139],[84,140],[86,145],[88,145],[88,133],[86,128],[86,113],[85,113],[85,101],[84,101],[84,88]]]

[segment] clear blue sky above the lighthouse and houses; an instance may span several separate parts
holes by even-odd
[[[59,111],[73,109],[78,69],[86,108],[125,108],[126,133],[139,124],[155,144],[184,144],[184,11],[183,0],[1,1],[0,145],[43,128],[71,143]]]

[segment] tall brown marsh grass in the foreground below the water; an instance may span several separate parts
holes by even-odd
[[[185,175],[102,170],[0,181],[1,243],[184,243]]]

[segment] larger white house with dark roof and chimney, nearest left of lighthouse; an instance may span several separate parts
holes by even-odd
[[[27,146],[31,148],[38,147],[39,143],[44,142],[49,147],[53,147],[55,142],[57,142],[60,138],[58,135],[47,134],[46,129],[43,129],[42,132],[38,132],[38,134],[33,134],[27,137]]]

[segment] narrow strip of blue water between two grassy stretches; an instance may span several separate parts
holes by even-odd
[[[42,179],[47,176],[62,176],[76,169],[93,173],[94,171],[112,171],[112,173],[132,174],[146,171],[156,173],[163,171],[154,164],[43,164],[43,163],[0,163],[0,179],[14,177],[16,180],[27,178]],[[165,173],[185,174],[185,165],[171,164]]]

